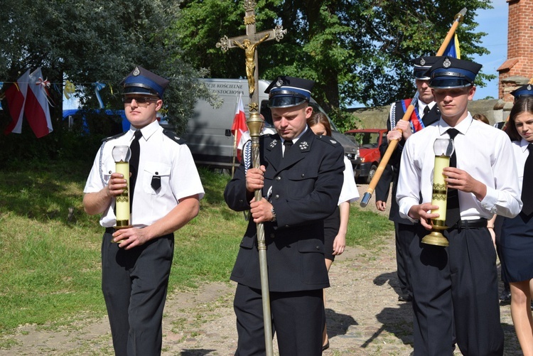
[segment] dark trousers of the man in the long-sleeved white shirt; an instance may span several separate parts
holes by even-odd
[[[417,225],[413,263],[414,355],[503,355],[496,252],[486,227],[445,232],[449,247],[424,244]],[[455,327],[456,340],[453,340]]]

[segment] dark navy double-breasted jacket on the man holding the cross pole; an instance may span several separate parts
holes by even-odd
[[[264,222],[269,290],[308,291],[329,286],[324,263],[323,219],[333,213],[343,185],[343,148],[311,129],[281,153],[279,135],[261,136],[259,157],[264,165],[263,198],[276,211],[276,222]],[[244,163],[227,184],[224,198],[236,211],[249,210]],[[268,196],[267,196],[268,195]],[[261,289],[257,224],[250,218],[231,279]]]

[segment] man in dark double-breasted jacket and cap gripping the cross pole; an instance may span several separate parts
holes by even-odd
[[[277,134],[260,142],[260,168],[243,161],[224,192],[232,210],[252,218],[240,244],[231,279],[236,281],[235,355],[264,355],[257,223],[264,223],[271,315],[281,356],[321,355],[325,322],[323,219],[333,213],[343,185],[343,149],[316,136],[306,119],[313,109],[311,80],[281,76],[269,85],[269,107]],[[255,201],[254,191],[262,190]]]

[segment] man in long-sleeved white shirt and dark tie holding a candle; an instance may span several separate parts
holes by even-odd
[[[402,153],[399,213],[419,222],[409,246],[415,356],[451,356],[455,341],[463,355],[503,354],[496,252],[487,219],[514,217],[522,203],[507,134],[468,112],[480,68],[448,56],[437,60],[429,86],[441,119],[413,134]],[[435,153],[429,148],[436,139],[453,140],[455,148],[442,172],[448,190],[443,212],[432,204]],[[421,242],[440,216],[449,247]]]

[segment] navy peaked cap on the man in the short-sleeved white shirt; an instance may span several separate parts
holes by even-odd
[[[152,95],[163,99],[163,92],[168,85],[168,80],[147,69],[136,66],[121,84],[124,86],[124,95]]]

